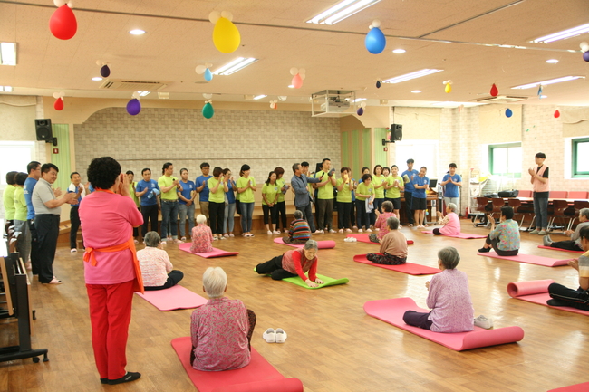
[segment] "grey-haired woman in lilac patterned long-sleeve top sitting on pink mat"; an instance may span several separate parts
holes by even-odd
[[[429,313],[406,311],[403,321],[414,327],[434,332],[466,332],[473,330],[474,310],[468,292],[468,277],[456,269],[460,256],[452,246],[438,252],[441,273],[433,275],[425,286],[430,291]]]

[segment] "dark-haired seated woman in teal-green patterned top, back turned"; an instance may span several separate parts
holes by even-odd
[[[485,245],[478,250],[480,253],[490,252],[491,246],[499,256],[515,256],[519,251],[519,226],[513,219],[511,206],[501,207],[501,219],[495,227],[495,219],[488,215],[491,223],[491,233],[485,240]]]

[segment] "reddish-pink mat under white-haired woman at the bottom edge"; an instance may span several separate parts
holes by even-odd
[[[303,392],[298,378],[285,378],[252,347],[252,359],[245,368],[200,371],[190,364],[190,337],[172,340],[182,366],[198,392]]]

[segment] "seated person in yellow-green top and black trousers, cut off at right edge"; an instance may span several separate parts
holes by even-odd
[[[580,235],[583,249],[589,249],[589,227],[583,227]],[[573,290],[562,284],[552,283],[548,286],[548,294],[552,300],[546,303],[550,306],[570,306],[589,311],[589,252],[569,261],[568,265],[579,272],[579,288]]]

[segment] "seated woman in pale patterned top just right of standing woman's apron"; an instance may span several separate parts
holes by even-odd
[[[168,253],[161,246],[158,232],[145,234],[145,249],[137,252],[137,260],[141,267],[143,287],[145,290],[163,290],[175,286],[182,280],[184,273],[174,270],[169,261]]]

